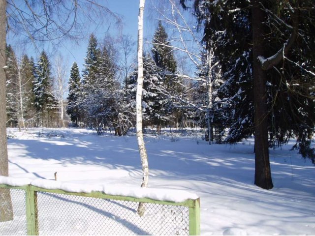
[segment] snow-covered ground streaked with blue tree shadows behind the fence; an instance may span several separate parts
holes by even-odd
[[[253,184],[252,140],[234,146],[208,145],[197,133],[189,134],[145,136],[149,186],[199,196],[202,235],[315,235],[315,167],[296,151],[290,151],[294,141],[282,149],[270,150],[275,187],[264,190]],[[57,172],[57,182],[65,186],[89,185],[91,189],[107,186],[116,189],[117,194],[129,191],[142,196],[135,190],[141,184],[142,174],[137,141],[132,133],[115,137],[97,136],[85,129],[29,129],[27,132],[8,129],[8,136],[9,175],[25,178],[21,184],[28,179],[53,180]],[[74,201],[61,196],[53,198],[63,203]],[[92,203],[91,209],[94,209]],[[39,220],[50,222],[49,227],[56,228],[53,224],[57,224],[59,216],[48,215],[40,216],[43,218]],[[76,220],[81,220],[80,215]],[[116,221],[120,220],[116,217]],[[75,227],[80,230],[84,224],[88,223],[78,221]]]

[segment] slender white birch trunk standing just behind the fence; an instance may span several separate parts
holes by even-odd
[[[145,0],[140,0],[139,16],[138,16],[138,81],[137,81],[137,94],[136,94],[136,128],[137,140],[142,165],[142,183],[141,187],[148,186],[149,180],[149,164],[147,151],[143,141],[142,133],[142,87],[143,87],[143,12]],[[139,203],[138,214],[143,216],[145,211],[144,203]]]

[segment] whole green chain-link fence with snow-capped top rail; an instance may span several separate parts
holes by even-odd
[[[0,235],[200,235],[199,198],[186,191],[12,177],[0,189],[10,189],[14,212]]]

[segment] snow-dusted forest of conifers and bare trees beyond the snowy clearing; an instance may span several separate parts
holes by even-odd
[[[209,144],[254,136],[255,183],[266,189],[269,148],[295,139],[292,149],[314,163],[314,2],[165,2],[143,53],[142,128],[201,128]],[[125,136],[136,126],[134,43],[91,34],[82,71],[45,50],[35,60],[7,45],[6,126]]]

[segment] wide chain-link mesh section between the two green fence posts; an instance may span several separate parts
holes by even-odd
[[[37,192],[39,235],[188,235],[189,208]]]

